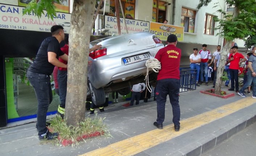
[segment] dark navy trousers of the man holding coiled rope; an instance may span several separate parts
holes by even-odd
[[[169,95],[173,110],[173,123],[180,125],[181,110],[179,108],[179,80],[162,79],[157,81],[156,85],[156,103],[157,103],[157,124],[161,124],[165,119],[166,97]]]

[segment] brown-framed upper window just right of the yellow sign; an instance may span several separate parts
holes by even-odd
[[[181,10],[181,25],[185,32],[194,33],[195,31],[195,10],[182,8]]]

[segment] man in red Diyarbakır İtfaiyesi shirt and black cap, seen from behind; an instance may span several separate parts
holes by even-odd
[[[157,119],[154,126],[163,128],[165,119],[165,102],[169,95],[173,110],[174,130],[180,128],[180,108],[179,108],[179,63],[181,60],[181,50],[176,47],[177,36],[170,34],[167,38],[168,45],[160,49],[155,58],[160,61],[161,69],[157,75],[156,101]]]

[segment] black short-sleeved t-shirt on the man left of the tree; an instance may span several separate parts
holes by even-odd
[[[59,46],[59,41],[55,37],[48,37],[42,42],[34,62],[29,67],[29,71],[51,75],[54,65],[48,62],[48,52],[54,52],[59,56],[64,55]]]

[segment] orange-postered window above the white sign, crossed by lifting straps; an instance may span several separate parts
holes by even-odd
[[[135,16],[135,0],[121,0],[125,18],[134,19]],[[119,7],[119,16],[123,18],[121,8]],[[110,0],[109,16],[115,16],[115,0]]]

